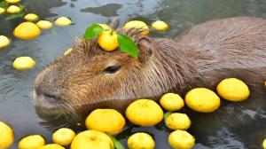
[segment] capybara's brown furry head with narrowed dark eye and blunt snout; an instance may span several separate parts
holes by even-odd
[[[82,106],[119,108],[123,100],[153,97],[164,91],[164,76],[158,70],[162,64],[154,60],[158,50],[153,40],[136,29],[117,32],[137,43],[138,58],[119,48],[104,51],[96,39],[77,40],[73,51],[37,76],[35,105],[51,112]]]

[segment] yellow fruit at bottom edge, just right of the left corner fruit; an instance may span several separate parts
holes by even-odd
[[[19,149],[37,149],[45,145],[45,140],[40,135],[23,137],[19,142]]]

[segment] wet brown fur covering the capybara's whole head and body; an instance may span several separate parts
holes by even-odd
[[[211,20],[175,39],[140,35],[136,29],[118,32],[138,44],[138,59],[120,50],[103,51],[96,40],[79,39],[69,55],[37,76],[36,106],[51,113],[123,110],[137,98],[158,100],[168,91],[184,95],[193,87],[215,90],[227,77],[249,86],[266,80],[266,20]],[[106,73],[111,66],[121,68]]]

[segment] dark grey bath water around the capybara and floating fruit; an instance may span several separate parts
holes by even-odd
[[[23,1],[23,0],[22,0]],[[20,41],[12,37],[12,29],[22,20],[5,21],[0,17],[0,34],[12,37],[12,44],[0,51],[0,121],[7,122],[15,132],[15,143],[30,134],[43,135],[51,143],[51,129],[59,125],[47,124],[35,114],[32,90],[35,76],[63,52],[71,47],[92,23],[107,22],[119,16],[121,23],[127,20],[165,20],[170,29],[166,33],[152,35],[171,37],[182,29],[205,20],[233,16],[266,18],[265,0],[27,0],[27,12],[35,12],[42,19],[54,20],[58,16],[72,18],[74,25],[52,27],[43,31],[34,41]],[[17,71],[12,60],[20,56],[36,59],[32,70]],[[241,103],[222,103],[214,114],[193,113],[184,109],[192,119],[189,131],[196,137],[195,148],[261,148],[266,137],[266,93],[262,84],[252,88],[252,96]],[[264,101],[263,101],[264,99]],[[54,125],[54,126],[53,126]],[[57,126],[59,127],[59,126]],[[125,143],[125,136],[145,130],[156,140],[156,148],[168,146],[168,129],[163,124],[152,128],[126,129],[118,138]]]

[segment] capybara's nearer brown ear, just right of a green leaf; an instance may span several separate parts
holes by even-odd
[[[152,41],[147,37],[142,37],[140,40],[138,40],[137,45],[139,53],[138,60],[142,63],[145,63],[153,55],[153,49],[155,47],[153,46]]]

